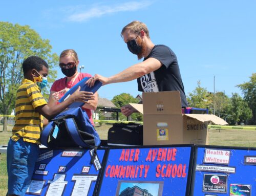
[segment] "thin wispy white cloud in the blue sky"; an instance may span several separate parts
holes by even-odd
[[[125,11],[136,11],[142,8],[146,8],[150,6],[151,2],[127,2],[118,5],[111,5],[111,6],[103,6],[103,5],[94,5],[88,10],[81,11],[84,6],[81,6],[78,9],[73,9],[73,13],[68,16],[68,21],[76,21],[82,22],[87,21],[94,17],[101,17],[103,15],[117,13],[117,12],[125,12]]]

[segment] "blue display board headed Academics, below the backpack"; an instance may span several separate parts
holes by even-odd
[[[91,164],[89,149],[41,149],[26,195],[93,195],[105,149],[98,149]]]

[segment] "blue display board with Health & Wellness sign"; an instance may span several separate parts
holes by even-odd
[[[191,195],[256,195],[256,148],[196,146]]]

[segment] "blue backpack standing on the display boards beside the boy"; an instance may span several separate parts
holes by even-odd
[[[42,130],[41,143],[50,148],[95,147],[100,139],[88,115],[81,107],[58,114]]]

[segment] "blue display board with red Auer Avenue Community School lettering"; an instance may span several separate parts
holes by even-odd
[[[188,195],[193,145],[110,149],[97,195]]]

